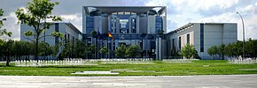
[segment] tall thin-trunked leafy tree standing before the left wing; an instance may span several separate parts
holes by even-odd
[[[60,21],[61,18],[58,16],[51,16],[53,7],[57,5],[58,2],[51,3],[50,0],[33,0],[27,3],[26,11],[24,9],[18,9],[15,13],[19,19],[18,23],[25,24],[27,26],[33,26],[34,31],[27,31],[25,35],[34,36],[35,39],[32,40],[35,43],[35,60],[38,62],[38,45],[39,40],[44,36],[41,33],[49,29],[51,24],[46,23],[46,18],[51,18],[52,21]],[[44,21],[44,22],[43,22]]]

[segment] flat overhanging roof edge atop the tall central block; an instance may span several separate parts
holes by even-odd
[[[83,6],[83,8],[87,9],[88,11],[91,11],[90,9],[97,9],[107,14],[111,14],[119,11],[144,13],[146,11],[155,9],[158,9],[156,10],[157,12],[161,12],[166,8],[166,6]]]

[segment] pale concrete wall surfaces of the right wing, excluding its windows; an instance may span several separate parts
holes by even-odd
[[[192,23],[193,26],[185,28],[182,31],[168,33],[167,37],[167,49],[172,48],[172,39],[175,39],[175,48],[179,48],[179,37],[182,38],[181,47],[187,43],[187,34],[190,34],[190,44],[194,45],[197,49],[199,56],[202,59],[211,59],[207,54],[207,49],[213,45],[219,46],[221,44],[228,44],[230,42],[237,42],[238,40],[238,28],[237,24],[232,23],[206,23],[204,24],[204,52],[200,52],[200,23]],[[178,29],[177,29],[178,30]],[[167,50],[171,52],[171,50]],[[170,55],[170,54],[168,54]],[[214,58],[220,59],[220,58]]]

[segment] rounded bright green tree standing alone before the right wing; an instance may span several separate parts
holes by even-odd
[[[185,58],[190,59],[193,55],[196,55],[196,48],[193,45],[187,43],[180,51],[180,55],[183,55]]]

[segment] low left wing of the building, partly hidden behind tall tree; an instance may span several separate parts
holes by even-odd
[[[24,33],[26,33],[28,30],[31,30],[34,32],[34,28],[32,26],[27,26],[24,24],[20,25],[20,40],[34,40],[34,36],[25,36]],[[58,32],[63,33],[65,35],[65,38],[67,40],[70,40],[72,42],[75,42],[76,40],[82,40],[82,33],[71,23],[51,23],[51,26],[49,29],[45,30],[45,33],[41,33],[41,36],[45,37],[41,38],[40,41],[45,40],[45,42],[48,42],[51,46],[55,45],[60,41],[60,38],[51,36],[52,32]],[[28,40],[28,39],[30,40]]]

